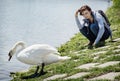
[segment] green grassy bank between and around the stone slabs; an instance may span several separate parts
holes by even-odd
[[[111,22],[111,28],[113,31],[113,39],[120,38],[120,1],[113,0],[113,6],[107,10],[107,15]],[[109,72],[120,72],[120,64],[114,66],[108,66],[105,68],[92,68],[92,69],[74,69],[77,66],[86,63],[104,63],[108,61],[120,61],[120,56],[117,56],[120,51],[113,51],[117,50],[117,46],[120,45],[120,42],[109,42],[110,39],[106,41],[105,46],[107,48],[94,48],[94,49],[87,49],[85,44],[88,42],[86,38],[84,38],[80,33],[75,34],[74,37],[70,39],[70,41],[66,42],[65,44],[61,45],[58,48],[59,52],[62,56],[70,56],[72,57],[70,60],[59,62],[55,64],[51,64],[45,67],[45,71],[48,73],[36,77],[33,79],[21,79],[22,76],[27,76],[34,73],[35,67],[30,68],[28,72],[17,72],[16,74],[11,75],[13,77],[12,81],[43,81],[45,78],[55,75],[55,74],[67,74],[67,76],[79,73],[79,72],[90,72],[89,75],[86,75],[81,78],[76,79],[69,79],[67,81],[85,81],[84,79],[89,79],[92,77],[96,77],[102,74],[106,74]],[[99,55],[98,58],[94,59],[94,53],[99,51],[106,51]],[[66,77],[67,77],[66,76]],[[115,77],[116,81],[120,81],[120,76]],[[64,81],[61,79],[56,79],[53,81]],[[109,80],[99,80],[99,81],[109,81]]]

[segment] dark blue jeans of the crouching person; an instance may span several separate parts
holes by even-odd
[[[94,43],[98,31],[99,31],[99,27],[97,24],[91,24],[90,27],[83,27],[82,29],[80,29],[80,32],[92,43]],[[100,39],[100,41],[104,41],[108,39],[109,36],[110,36],[110,32],[105,28],[105,32],[102,38]]]

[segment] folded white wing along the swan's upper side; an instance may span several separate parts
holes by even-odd
[[[47,44],[36,44],[36,45],[32,45],[27,47],[26,49],[24,49],[22,52],[24,52],[24,54],[30,54],[33,56],[46,56],[48,54],[59,54],[59,52],[57,51],[57,49],[55,49],[54,47],[47,45]]]

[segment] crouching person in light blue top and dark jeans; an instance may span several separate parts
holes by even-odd
[[[83,22],[79,21],[78,13],[83,16]],[[112,32],[105,19],[98,12],[93,12],[88,5],[76,11],[75,19],[80,32],[89,40],[89,46],[105,42],[109,36],[112,38]]]

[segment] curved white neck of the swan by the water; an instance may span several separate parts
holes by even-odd
[[[19,53],[21,50],[25,49],[25,44],[23,42],[17,42],[13,46],[13,52],[14,53]]]

